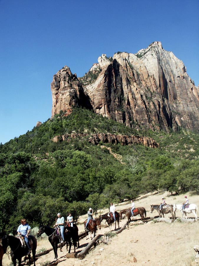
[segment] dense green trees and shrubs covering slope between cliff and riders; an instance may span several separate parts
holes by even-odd
[[[159,148],[96,146],[83,137],[52,141],[71,132],[145,135]],[[0,145],[0,231],[16,230],[22,217],[31,226],[52,225],[58,211],[77,218],[88,207],[97,210],[155,190],[198,193],[198,147],[192,132],[137,132],[85,109],[55,115]]]

